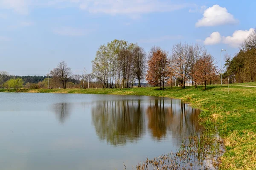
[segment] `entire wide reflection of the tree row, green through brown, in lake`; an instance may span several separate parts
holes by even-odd
[[[161,141],[168,135],[181,139],[202,128],[198,124],[200,111],[175,99],[98,101],[91,113],[96,134],[113,145],[137,141],[146,130]]]

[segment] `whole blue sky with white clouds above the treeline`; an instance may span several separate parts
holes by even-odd
[[[0,0],[0,71],[43,76],[65,61],[73,74],[92,70],[112,40],[204,45],[220,67],[256,28],[253,0]]]

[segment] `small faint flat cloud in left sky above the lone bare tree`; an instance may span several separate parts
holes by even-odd
[[[76,37],[87,35],[90,31],[87,29],[81,28],[72,28],[72,27],[61,27],[53,29],[54,34]]]

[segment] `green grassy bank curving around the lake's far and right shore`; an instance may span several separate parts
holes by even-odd
[[[230,85],[229,94],[227,85],[209,85],[207,89],[204,91],[199,86],[197,89],[166,88],[165,91],[157,88],[131,88],[21,89],[20,92],[145,95],[183,99],[191,103],[192,107],[204,110],[200,117],[206,127],[212,122],[217,125],[227,150],[221,157],[221,169],[256,169],[256,88]],[[4,91],[7,90],[0,89],[0,92]]]

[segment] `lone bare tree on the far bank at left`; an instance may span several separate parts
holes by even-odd
[[[67,80],[71,76],[71,68],[67,66],[67,63],[62,61],[58,64],[57,69],[59,71],[59,79],[63,85],[63,88],[66,88]]]

